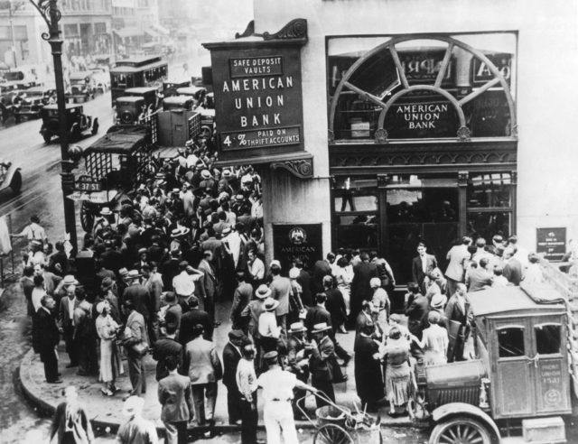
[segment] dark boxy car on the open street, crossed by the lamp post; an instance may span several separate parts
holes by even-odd
[[[90,134],[98,133],[98,117],[91,117],[84,114],[82,105],[66,105],[67,123],[69,126],[69,137],[79,139],[85,131]],[[40,134],[45,143],[51,143],[54,135],[59,134],[59,114],[57,105],[42,106],[42,127]]]

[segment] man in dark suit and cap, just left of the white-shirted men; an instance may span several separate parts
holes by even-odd
[[[242,357],[241,350],[248,338],[241,330],[228,332],[228,343],[223,348],[223,385],[227,387],[228,423],[241,423],[241,395],[237,386],[237,365]]]

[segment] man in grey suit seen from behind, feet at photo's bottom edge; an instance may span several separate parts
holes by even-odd
[[[192,419],[191,380],[177,372],[174,356],[165,361],[168,375],[159,381],[158,398],[162,406],[161,421],[166,430],[167,444],[187,442],[187,422]]]

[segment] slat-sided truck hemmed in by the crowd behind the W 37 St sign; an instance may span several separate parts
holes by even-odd
[[[86,176],[70,199],[82,201],[80,223],[85,231],[92,229],[102,207],[118,211],[124,199],[130,200],[126,192],[154,174],[152,152],[148,128],[114,125],[82,153]]]

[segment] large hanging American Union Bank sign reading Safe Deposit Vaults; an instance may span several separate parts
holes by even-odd
[[[211,61],[225,159],[303,150],[299,47],[213,50]]]

